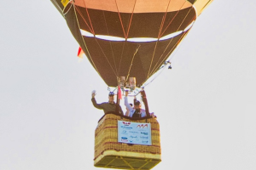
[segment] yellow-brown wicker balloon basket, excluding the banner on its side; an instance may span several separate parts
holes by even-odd
[[[118,142],[118,120],[151,124],[152,145]],[[131,117],[106,114],[95,131],[95,167],[151,169],[161,161],[160,126],[155,118],[133,120]]]

